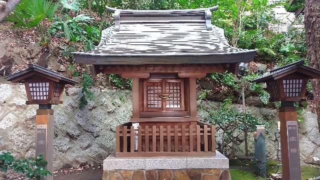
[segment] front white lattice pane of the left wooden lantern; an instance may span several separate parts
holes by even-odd
[[[49,82],[29,82],[32,100],[46,100],[48,98]]]

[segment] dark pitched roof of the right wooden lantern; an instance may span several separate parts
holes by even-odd
[[[266,82],[268,80],[278,79],[290,75],[294,72],[299,72],[300,75],[303,74],[304,78],[311,79],[311,78],[320,78],[320,70],[306,66],[303,64],[303,60],[299,60],[282,67],[270,70],[265,74],[261,75],[260,77],[252,80],[251,82]]]

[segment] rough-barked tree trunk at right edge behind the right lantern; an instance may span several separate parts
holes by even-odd
[[[304,26],[309,66],[320,69],[320,0],[305,0]],[[320,79],[311,83],[320,132]]]

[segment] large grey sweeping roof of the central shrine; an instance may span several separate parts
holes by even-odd
[[[102,30],[95,49],[73,52],[84,64],[237,63],[254,49],[232,47],[211,24],[217,6],[197,9],[131,10],[106,7],[114,25]]]

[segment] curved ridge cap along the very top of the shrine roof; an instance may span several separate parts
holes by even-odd
[[[136,10],[136,9],[117,9],[110,6],[105,6],[107,11],[115,12],[200,12],[200,11],[214,11],[218,9],[218,5],[212,6],[212,7],[206,7],[206,8],[195,8],[195,9],[166,9],[166,10]]]

